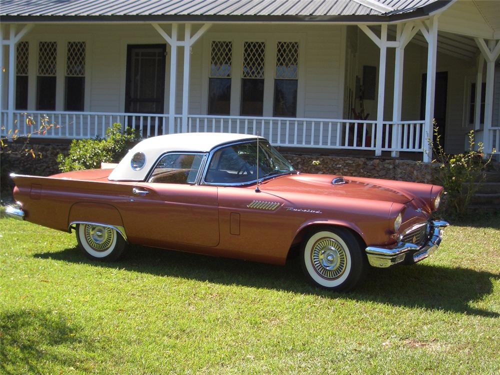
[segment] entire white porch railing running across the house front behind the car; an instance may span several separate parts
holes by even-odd
[[[114,122],[129,126],[143,137],[167,134],[168,114],[20,111],[13,113],[11,131],[19,134],[33,132],[40,125],[49,125],[45,134],[32,137],[83,139],[96,135],[104,137]],[[1,111],[2,127],[7,123],[7,111]],[[424,121],[384,121],[381,131],[381,149],[385,151],[422,152]],[[182,131],[182,116],[174,116],[173,132]],[[301,148],[342,148],[375,150],[376,121],[331,118],[243,117],[188,115],[187,131],[237,132],[259,134],[271,144]],[[6,135],[7,128],[1,134]]]

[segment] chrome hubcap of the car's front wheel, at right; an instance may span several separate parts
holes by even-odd
[[[344,248],[333,238],[321,238],[311,251],[314,268],[324,278],[335,279],[342,275],[346,266]]]

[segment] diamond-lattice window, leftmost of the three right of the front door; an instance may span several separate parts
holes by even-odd
[[[231,65],[232,42],[212,41],[208,77],[208,114],[229,114]]]

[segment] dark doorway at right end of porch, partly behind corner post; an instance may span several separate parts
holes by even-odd
[[[439,140],[444,147],[444,134],[446,128],[446,96],[448,88],[448,72],[439,71],[436,73],[435,93],[434,93],[434,118],[437,124]],[[422,91],[420,93],[420,119],[425,119],[425,91],[427,89],[427,74],[422,74]],[[432,136],[435,142],[436,136]]]

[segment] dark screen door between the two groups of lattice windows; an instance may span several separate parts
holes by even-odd
[[[165,44],[127,46],[125,112],[163,113],[165,58]],[[137,131],[142,128],[141,135],[146,136],[161,134],[163,124],[157,117],[129,116],[128,126]]]

